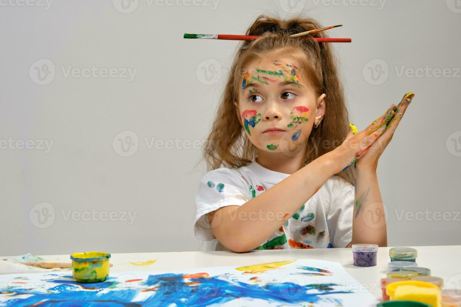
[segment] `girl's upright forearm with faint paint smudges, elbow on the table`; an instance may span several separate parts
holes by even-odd
[[[352,244],[387,246],[386,219],[376,169],[355,168]]]

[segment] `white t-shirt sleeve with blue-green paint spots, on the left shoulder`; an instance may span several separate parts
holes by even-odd
[[[248,202],[250,197],[246,190],[242,176],[230,168],[217,168],[203,176],[195,195],[195,237],[203,241],[216,239],[207,213],[225,206],[241,206]]]

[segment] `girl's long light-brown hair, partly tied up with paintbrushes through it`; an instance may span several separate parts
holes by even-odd
[[[290,36],[320,28],[315,19],[302,16],[282,20],[260,15],[251,24],[246,35],[261,37],[254,41],[243,41],[241,46],[245,48],[239,48],[236,52],[211,131],[203,146],[201,159],[205,160],[207,171],[220,167],[238,168],[252,162],[257,156],[257,147],[246,137],[234,102],[238,101],[238,91],[242,86],[242,69],[253,59],[263,58],[269,53],[283,52],[284,57],[297,59],[307,72],[317,95],[326,94],[325,116],[319,127],[313,127],[306,141],[305,163],[341,145],[349,132],[349,113],[330,43]],[[324,31],[306,37],[328,36]],[[321,144],[330,145],[319,146]],[[351,184],[355,180],[353,168],[336,175]]]

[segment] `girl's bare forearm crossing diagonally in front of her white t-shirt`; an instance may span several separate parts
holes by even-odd
[[[224,245],[238,246],[238,251],[258,247],[337,172],[330,153],[308,163],[264,193],[229,212],[227,219],[221,222],[225,228],[220,231],[219,241]]]

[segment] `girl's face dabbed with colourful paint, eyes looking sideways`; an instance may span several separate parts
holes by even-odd
[[[325,114],[301,67],[287,58],[255,59],[243,70],[238,117],[259,150],[297,156]]]

